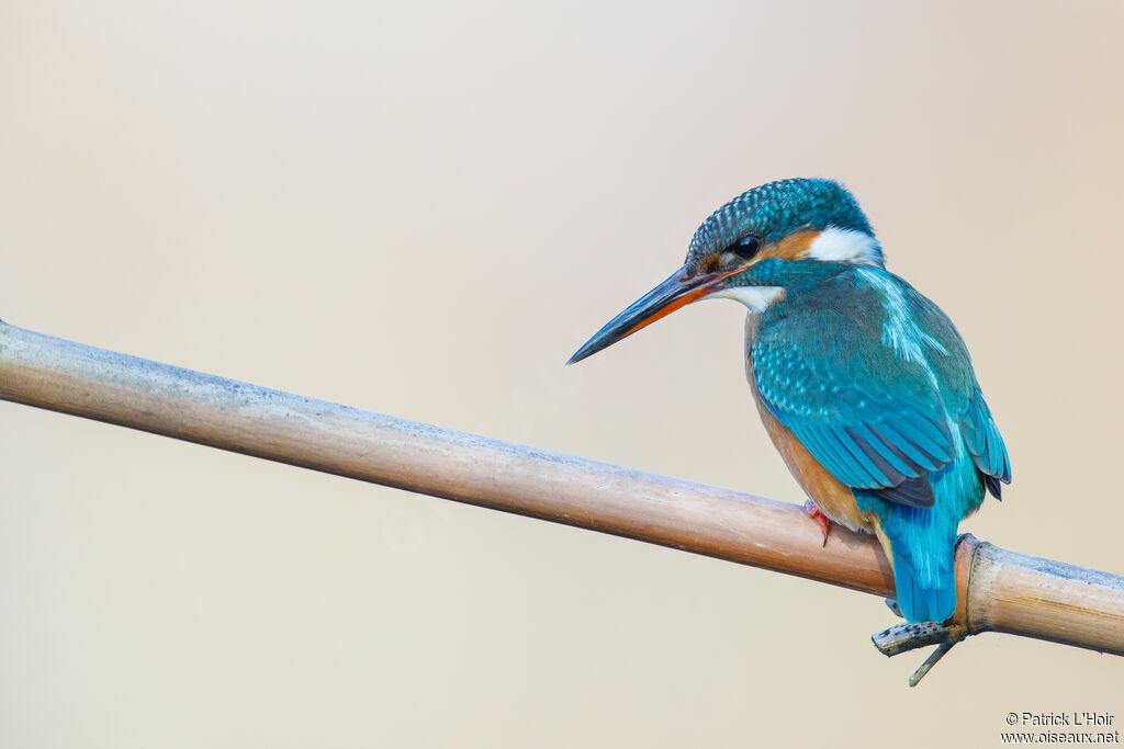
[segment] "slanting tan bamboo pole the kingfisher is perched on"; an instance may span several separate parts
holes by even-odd
[[[833,526],[822,546],[818,527],[792,504],[292,395],[4,322],[0,399],[865,593],[894,591],[873,537]],[[966,536],[957,578],[950,629],[917,637],[895,628],[880,649],[892,655],[997,631],[1124,655],[1122,577]]]

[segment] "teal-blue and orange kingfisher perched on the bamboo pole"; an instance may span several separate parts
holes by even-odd
[[[957,528],[1010,460],[949,317],[886,270],[854,197],[824,179],[780,180],[714,211],[683,266],[613,318],[580,362],[701,299],[749,310],[745,371],[773,446],[834,521],[874,533],[910,622],[957,605]]]

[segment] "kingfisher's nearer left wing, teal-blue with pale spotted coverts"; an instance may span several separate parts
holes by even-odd
[[[818,300],[763,319],[750,350],[754,384],[769,411],[842,483],[931,506],[927,472],[955,449],[934,374],[908,347],[941,344],[924,335],[900,346],[883,340],[878,299],[859,302],[849,309]]]

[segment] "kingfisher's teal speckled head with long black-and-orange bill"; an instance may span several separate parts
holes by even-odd
[[[683,266],[586,341],[573,364],[700,299],[761,311],[786,290],[849,265],[881,267],[882,250],[859,203],[832,180],[779,180],[716,210],[691,238]]]

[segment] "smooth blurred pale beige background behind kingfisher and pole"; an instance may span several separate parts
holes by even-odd
[[[770,179],[858,193],[1015,467],[966,528],[1124,572],[1124,4],[0,4],[0,316],[799,501],[742,311],[562,362]],[[877,599],[0,404],[0,746],[998,746],[1124,721]]]

